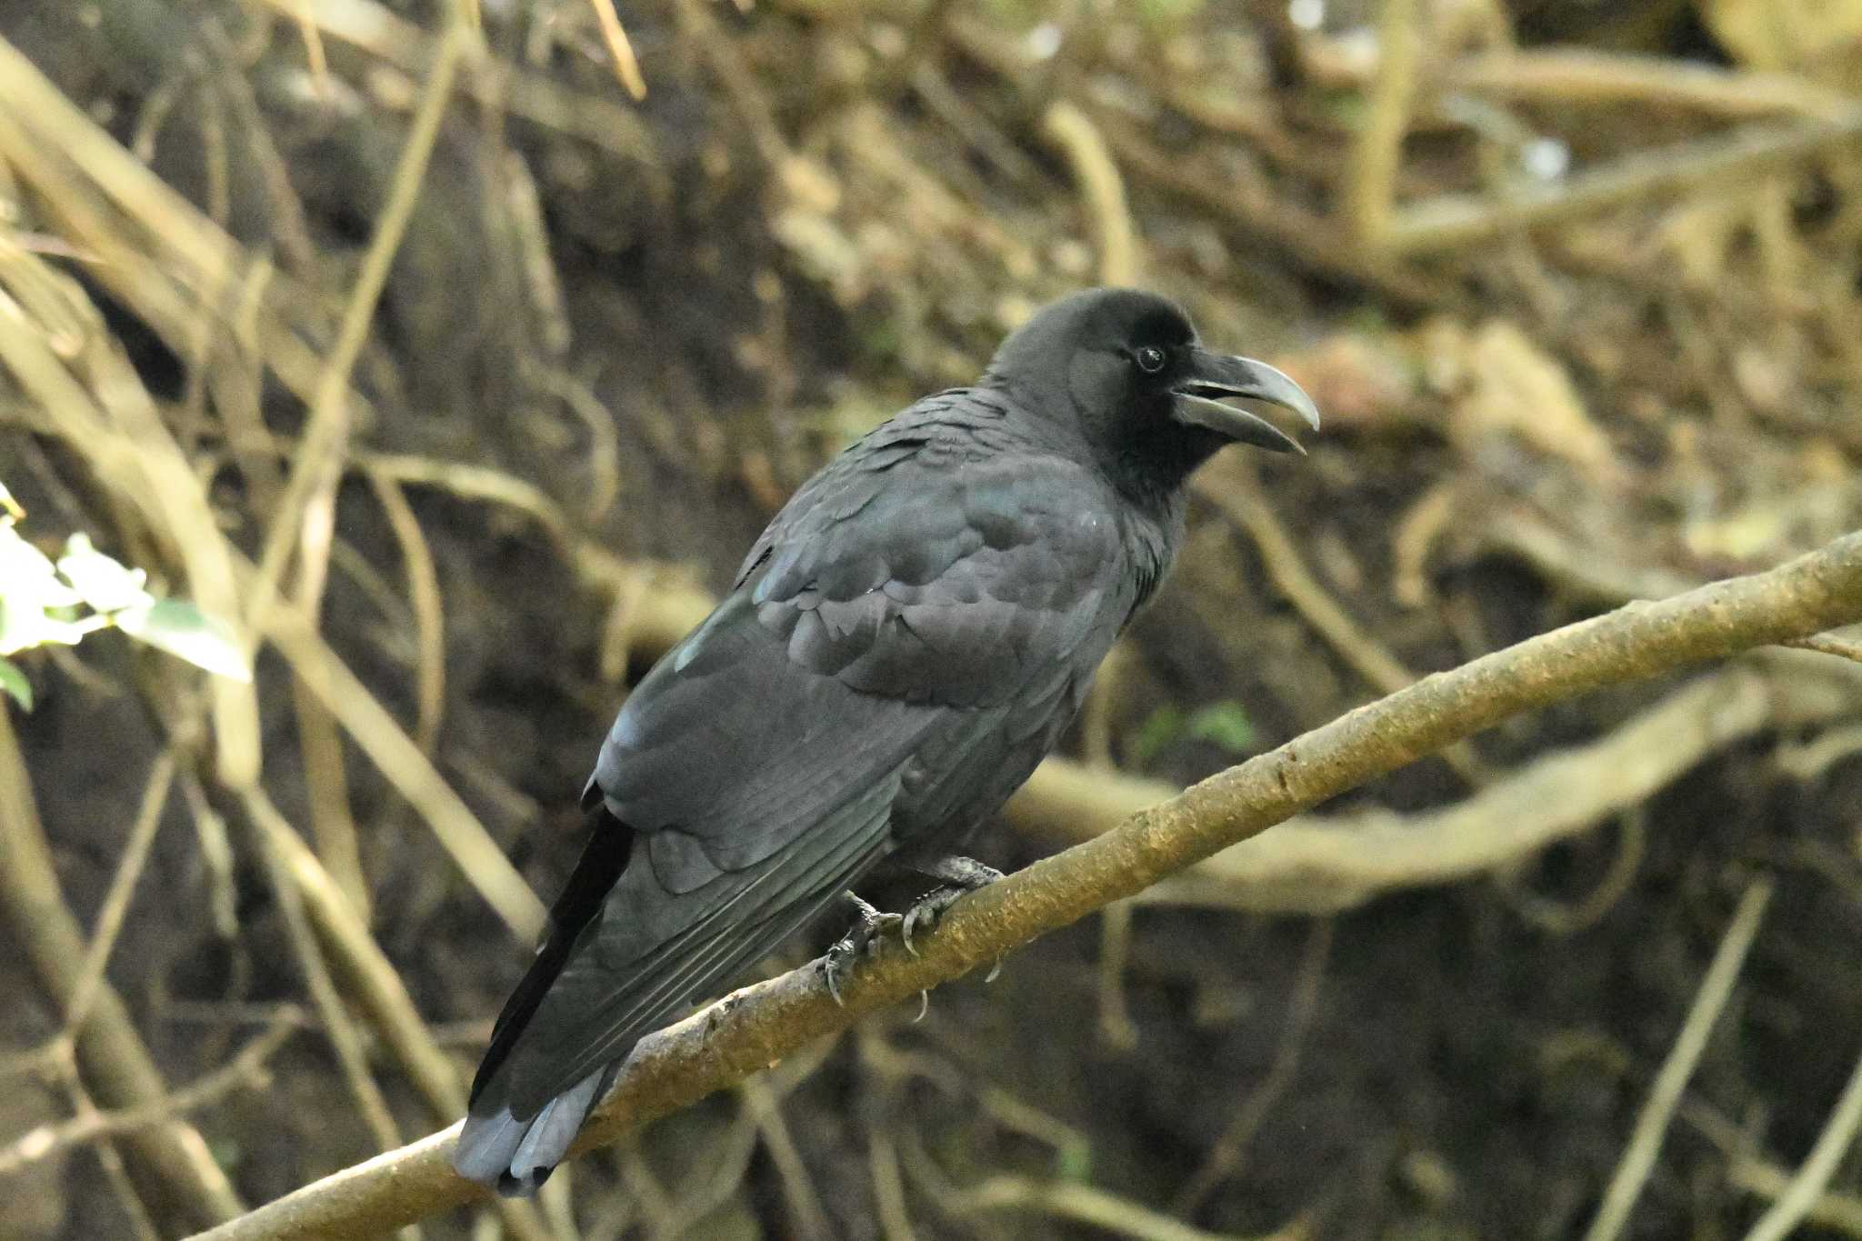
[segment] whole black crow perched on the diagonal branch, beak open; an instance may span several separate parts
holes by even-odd
[[[1169,569],[1190,473],[1229,443],[1300,450],[1227,396],[1318,428],[1292,380],[1203,350],[1175,303],[1080,292],[789,499],[601,742],[594,832],[492,1029],[462,1176],[534,1193],[642,1034],[842,895],[858,921],[823,958],[836,999],[883,928],[909,945],[1000,878],[955,850]],[[879,914],[849,886],[881,860],[938,887]]]

